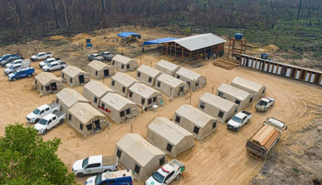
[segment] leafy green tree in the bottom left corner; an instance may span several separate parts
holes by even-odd
[[[0,184],[76,184],[58,158],[60,139],[43,141],[32,127],[16,123],[0,137]]]

